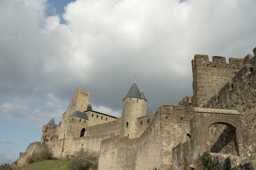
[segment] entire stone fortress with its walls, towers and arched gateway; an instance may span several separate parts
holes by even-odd
[[[253,52],[256,55],[256,48]],[[185,163],[195,169],[206,151],[215,169],[224,169],[226,157],[234,170],[256,169],[256,57],[226,63],[225,57],[214,56],[209,62],[207,55],[195,55],[192,70],[193,96],[161,105],[151,115],[146,115],[146,98],[135,82],[123,100],[121,118],[88,109],[90,92],[77,89],[63,120],[44,125],[41,143],[31,144],[18,165],[48,145],[58,158],[84,149],[98,158],[100,170],[183,169]],[[70,117],[76,111],[82,117]]]

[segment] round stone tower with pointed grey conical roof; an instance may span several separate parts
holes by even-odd
[[[123,99],[122,136],[137,137],[137,118],[146,115],[146,98],[134,81]]]

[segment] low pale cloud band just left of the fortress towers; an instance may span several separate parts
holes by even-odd
[[[0,118],[36,126],[42,123],[46,124],[50,118],[60,120],[61,115],[65,112],[63,103],[55,98],[53,94],[48,94],[47,96],[46,102],[41,103],[40,106],[36,106],[32,100],[23,102],[22,98],[2,103],[0,106]]]

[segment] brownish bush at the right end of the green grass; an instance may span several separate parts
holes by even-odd
[[[95,168],[96,166],[92,164],[92,162],[95,162],[95,159],[97,159],[97,157],[94,157],[92,154],[88,154],[81,149],[75,157],[70,159],[68,167],[70,170],[87,170]]]

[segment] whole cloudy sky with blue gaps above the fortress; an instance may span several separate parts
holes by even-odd
[[[1,0],[0,164],[60,121],[77,87],[119,117],[137,85],[153,112],[191,96],[194,54],[245,57],[255,0]],[[228,61],[228,60],[227,60]]]

